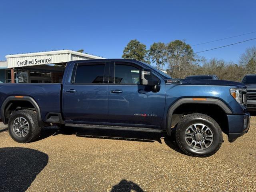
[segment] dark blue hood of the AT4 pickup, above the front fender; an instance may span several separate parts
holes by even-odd
[[[235,82],[235,81],[226,81],[226,80],[181,79],[181,81],[183,82],[183,84],[236,86],[238,88],[246,88],[246,85],[243,83]]]

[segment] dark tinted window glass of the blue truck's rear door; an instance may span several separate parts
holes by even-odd
[[[104,64],[78,64],[75,83],[103,83]]]

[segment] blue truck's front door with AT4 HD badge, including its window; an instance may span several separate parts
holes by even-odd
[[[159,92],[152,92],[152,87],[139,84],[140,68],[132,62],[111,62],[108,122],[127,126],[160,126],[164,115],[165,82],[155,74],[161,88]]]

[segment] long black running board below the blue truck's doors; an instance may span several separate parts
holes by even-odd
[[[152,128],[145,128],[145,127],[122,127],[122,126],[72,124],[72,123],[65,123],[65,126],[94,128],[94,129],[113,129],[113,130],[126,130],[126,131],[157,132],[157,133],[163,132],[163,130],[160,130],[160,129],[152,129]]]

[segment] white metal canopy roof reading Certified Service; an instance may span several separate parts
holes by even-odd
[[[47,51],[6,55],[7,67],[26,67],[34,65],[66,63],[74,60],[104,59],[102,57],[80,53],[72,50]]]

